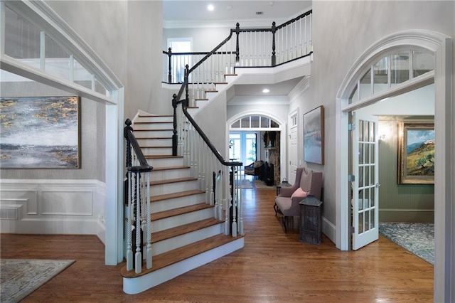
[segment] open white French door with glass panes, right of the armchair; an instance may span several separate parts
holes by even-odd
[[[353,250],[379,238],[378,117],[353,113]]]

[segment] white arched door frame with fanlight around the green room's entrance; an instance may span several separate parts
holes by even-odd
[[[451,38],[441,33],[432,31],[402,31],[382,38],[370,46],[358,58],[349,70],[346,78],[338,90],[336,98],[336,247],[348,250],[349,218],[348,218],[348,113],[351,110],[364,107],[382,100],[385,95],[398,95],[414,90],[422,85],[422,81],[435,85],[435,112],[434,129],[437,147],[435,149],[435,188],[434,188],[434,301],[452,302],[455,299],[455,260],[452,260],[455,250],[455,206],[454,189],[455,178],[451,171],[455,171],[455,161],[451,155],[455,150],[455,140],[451,129],[455,129],[455,108],[451,93]],[[388,49],[400,46],[417,46],[434,52],[434,76],[417,81],[407,81],[397,85],[383,94],[373,95],[369,100],[348,104],[350,92],[355,87],[357,80],[365,65]]]

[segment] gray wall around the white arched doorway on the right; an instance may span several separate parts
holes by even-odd
[[[343,78],[363,51],[390,33],[417,28],[455,37],[454,11],[453,1],[313,2],[310,88],[296,105],[301,112],[325,107],[326,164],[307,165],[324,172],[323,216],[331,223],[336,222],[336,94]]]

